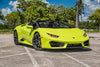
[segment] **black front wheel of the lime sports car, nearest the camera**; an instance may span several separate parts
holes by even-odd
[[[41,37],[40,37],[39,33],[35,33],[35,35],[33,37],[33,40],[32,40],[32,43],[33,43],[34,49],[42,50],[42,47],[41,47]]]

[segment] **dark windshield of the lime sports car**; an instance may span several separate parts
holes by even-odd
[[[73,28],[71,25],[65,24],[64,22],[53,22],[53,21],[42,21],[38,22],[41,28]]]

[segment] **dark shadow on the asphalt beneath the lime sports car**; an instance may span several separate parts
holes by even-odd
[[[34,50],[33,46],[21,44],[20,46],[25,46]],[[42,49],[37,51],[44,51],[44,52],[87,52],[92,51],[91,48],[66,48],[66,49]]]

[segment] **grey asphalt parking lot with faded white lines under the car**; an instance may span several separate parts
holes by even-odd
[[[0,34],[0,67],[100,67],[100,33],[88,33],[91,47],[36,51]]]

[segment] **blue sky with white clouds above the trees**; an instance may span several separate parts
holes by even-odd
[[[77,0],[42,0],[49,5],[60,5],[63,4],[65,7],[74,7]],[[88,16],[96,10],[97,8],[100,9],[100,0],[83,0],[86,4],[85,6],[85,14],[83,15],[83,20],[87,20]],[[16,11],[17,0],[0,0],[0,10],[2,11],[3,15],[6,16],[7,14],[11,13],[12,11]],[[2,21],[0,21],[2,22]]]

